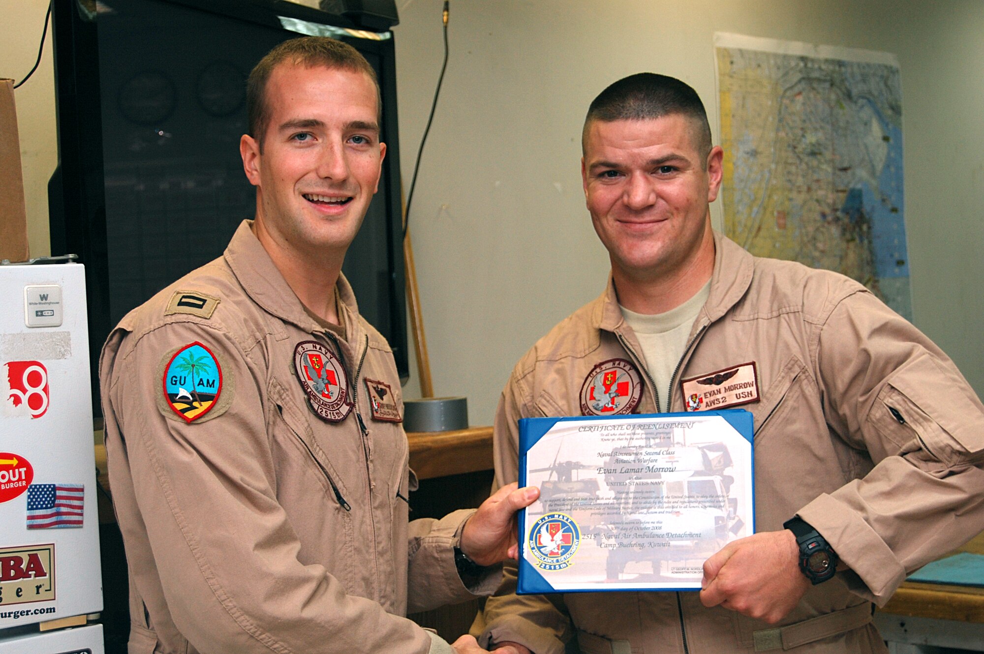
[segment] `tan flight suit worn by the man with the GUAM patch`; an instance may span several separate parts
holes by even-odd
[[[393,355],[344,277],[338,311],[344,336],[305,312],[245,221],[222,257],[110,334],[100,382],[131,654],[451,651],[402,616],[473,597],[453,551],[470,511],[407,523],[406,437],[373,419],[367,394],[366,380],[389,386],[402,415]],[[162,375],[196,341],[222,384],[187,423]],[[302,341],[343,364],[355,404],[341,422],[309,406],[294,368]]]

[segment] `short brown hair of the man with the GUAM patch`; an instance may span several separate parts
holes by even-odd
[[[283,41],[267,53],[246,81],[246,113],[249,117],[249,135],[263,150],[263,137],[270,120],[270,107],[267,106],[267,81],[274,69],[288,62],[294,66],[325,66],[352,72],[362,72],[369,76],[376,87],[377,114],[382,115],[383,104],[376,71],[366,58],[348,43],[328,36],[302,36]]]

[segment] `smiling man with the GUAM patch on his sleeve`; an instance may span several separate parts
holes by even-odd
[[[403,616],[494,590],[537,493],[407,522],[400,377],[340,271],[386,154],[375,73],[339,41],[289,40],[247,104],[255,220],[100,361],[129,651],[484,652]]]

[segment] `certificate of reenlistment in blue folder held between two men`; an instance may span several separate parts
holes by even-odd
[[[517,592],[699,590],[704,562],[754,533],[743,409],[520,420]]]

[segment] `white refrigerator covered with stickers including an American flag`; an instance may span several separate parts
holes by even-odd
[[[0,265],[0,654],[103,652],[89,366],[85,268]]]

